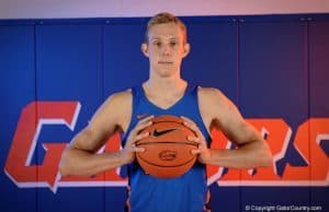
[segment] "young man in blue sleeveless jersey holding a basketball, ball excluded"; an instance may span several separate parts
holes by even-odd
[[[185,25],[178,17],[169,13],[154,16],[141,51],[149,58],[148,81],[106,99],[64,152],[63,176],[92,176],[128,164],[131,211],[201,212],[207,210],[206,164],[235,168],[272,164],[265,141],[220,91],[192,86],[181,79],[181,62],[190,52],[190,44]],[[197,154],[197,163],[173,179],[146,175],[135,161],[135,153],[144,151],[135,142],[149,136],[138,132],[160,115],[182,117],[184,125],[197,134],[189,138],[198,143],[192,152]],[[222,130],[238,149],[208,149],[212,128]],[[124,133],[122,151],[95,154],[116,130]]]

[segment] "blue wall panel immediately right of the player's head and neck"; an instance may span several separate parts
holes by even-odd
[[[205,87],[216,87],[237,104],[237,24],[220,20],[191,21],[188,34],[191,52],[183,61],[183,78]],[[212,211],[238,211],[240,188],[226,187],[225,181],[216,179],[209,185]]]

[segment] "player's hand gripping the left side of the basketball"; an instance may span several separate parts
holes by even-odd
[[[135,160],[135,153],[136,152],[144,152],[144,148],[136,146],[136,142],[145,139],[149,136],[149,132],[139,133],[141,130],[144,130],[146,127],[152,125],[150,119],[152,119],[155,116],[148,116],[137,122],[135,128],[131,131],[127,141],[125,143],[124,149],[121,151],[122,158],[126,164],[132,163]]]

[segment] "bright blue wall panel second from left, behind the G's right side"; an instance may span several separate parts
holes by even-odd
[[[44,145],[68,143],[88,125],[102,102],[102,71],[101,26],[61,25],[59,22],[36,26],[37,99],[55,103],[72,101],[81,105],[80,110],[75,108],[77,123],[72,131],[64,123],[56,125],[56,121],[43,126],[36,145],[39,165],[46,160],[47,151]],[[38,108],[38,115],[45,110],[42,107]],[[54,105],[55,109],[59,110]],[[46,185],[43,175],[44,173],[38,173],[39,184]],[[50,186],[53,190],[49,185],[41,186],[38,210],[59,212],[67,211],[67,207],[71,205],[72,211],[104,211],[103,182],[83,181],[83,178],[71,182],[59,179],[55,182],[56,188]]]

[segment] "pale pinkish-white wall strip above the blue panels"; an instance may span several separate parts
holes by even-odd
[[[328,0],[1,0],[0,19],[328,13]]]

